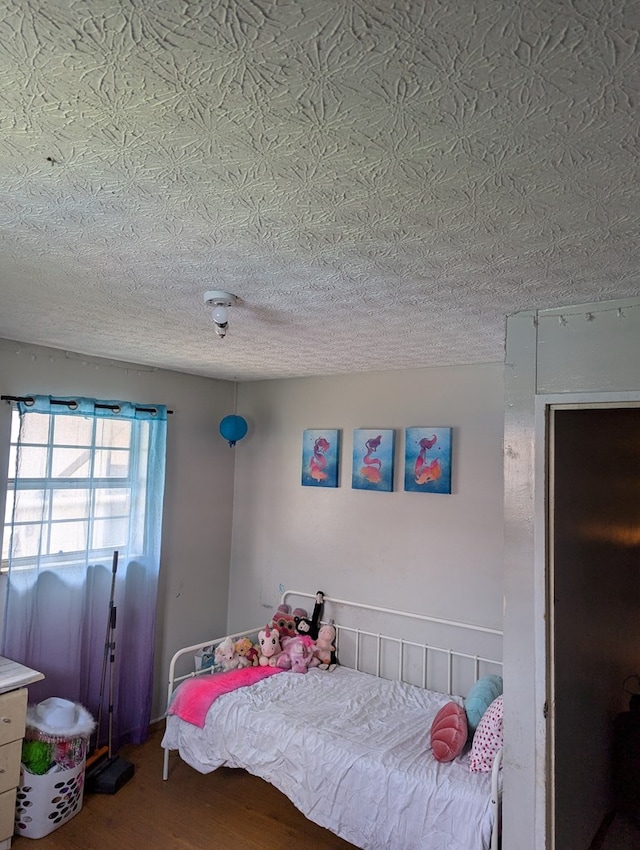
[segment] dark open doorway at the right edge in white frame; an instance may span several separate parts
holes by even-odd
[[[553,408],[549,466],[556,850],[615,806],[612,743],[640,673],[640,408]]]

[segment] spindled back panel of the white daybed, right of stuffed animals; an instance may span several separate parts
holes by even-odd
[[[281,603],[312,608],[315,593],[286,590]],[[466,696],[481,676],[502,673],[502,631],[324,597],[323,622],[336,628],[338,661],[346,667]]]

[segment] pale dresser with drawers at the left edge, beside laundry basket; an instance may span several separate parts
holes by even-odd
[[[0,655],[0,850],[9,850],[27,713],[26,685],[42,673]]]

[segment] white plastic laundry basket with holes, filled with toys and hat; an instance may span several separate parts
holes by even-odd
[[[94,726],[89,712],[68,700],[52,697],[29,706],[16,793],[16,835],[42,838],[78,814]]]

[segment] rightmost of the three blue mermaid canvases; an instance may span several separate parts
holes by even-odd
[[[451,493],[451,428],[407,428],[404,489]]]

